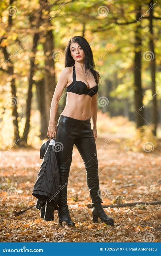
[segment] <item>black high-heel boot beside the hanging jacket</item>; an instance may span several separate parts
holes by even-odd
[[[58,207],[58,225],[62,226],[62,222],[65,221],[69,226],[75,226],[75,223],[71,220],[68,205],[65,207]]]

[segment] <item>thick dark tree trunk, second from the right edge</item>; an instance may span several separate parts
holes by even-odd
[[[141,6],[139,6],[139,11],[136,15],[137,25],[135,29],[135,59],[134,59],[134,90],[135,90],[135,120],[137,123],[137,128],[144,125],[144,109],[143,106],[143,92],[141,83],[141,21],[139,17],[141,16]],[[140,111],[141,108],[141,111]]]

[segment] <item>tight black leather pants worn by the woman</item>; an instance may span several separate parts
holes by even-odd
[[[62,186],[58,206],[60,208],[67,206],[68,177],[74,144],[85,165],[86,180],[92,199],[92,205],[100,202],[103,203],[100,197],[96,144],[91,129],[90,118],[83,121],[60,115],[57,125],[56,142],[57,146],[59,146],[57,154]]]

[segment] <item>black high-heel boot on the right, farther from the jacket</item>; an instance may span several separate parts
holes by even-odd
[[[98,218],[100,218],[101,222],[106,223],[107,225],[114,225],[114,220],[106,215],[101,203],[92,204],[92,206],[93,222],[99,222]]]

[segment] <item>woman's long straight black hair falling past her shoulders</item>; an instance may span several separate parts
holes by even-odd
[[[94,63],[94,59],[93,59],[92,49],[91,49],[89,43],[87,42],[87,40],[83,36],[74,36],[69,40],[68,45],[65,49],[65,52],[66,52],[66,54],[65,54],[65,67],[72,67],[75,64],[75,61],[74,61],[73,57],[71,56],[71,52],[70,52],[70,45],[72,43],[78,43],[82,47],[82,49],[84,50],[84,53],[85,53],[85,62],[84,62],[85,74],[88,77],[88,69],[89,69],[91,71],[91,73],[93,74],[93,76],[96,80],[96,83],[98,84],[96,74],[99,75],[99,77],[100,77],[100,74],[99,74],[98,71],[95,70],[95,63]]]

